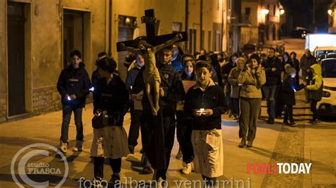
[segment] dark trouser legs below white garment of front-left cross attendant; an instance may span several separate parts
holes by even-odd
[[[121,158],[108,158],[113,173],[121,172]],[[94,157],[94,177],[101,177],[103,179],[103,161],[104,158]]]

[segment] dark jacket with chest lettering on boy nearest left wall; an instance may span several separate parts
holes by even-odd
[[[84,107],[86,95],[91,88],[89,74],[84,69],[84,64],[79,64],[78,69],[70,65],[67,69],[62,70],[57,81],[57,90],[62,96],[62,105],[71,107]],[[75,100],[66,100],[65,95],[76,95]]]

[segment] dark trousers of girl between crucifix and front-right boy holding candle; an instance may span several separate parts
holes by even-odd
[[[192,119],[183,119],[182,111],[177,111],[177,141],[181,147],[183,162],[191,163],[194,160],[194,149],[191,143]]]

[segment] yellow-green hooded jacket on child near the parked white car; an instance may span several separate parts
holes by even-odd
[[[313,79],[309,86],[306,86],[306,89],[309,91],[309,98],[311,100],[322,99],[322,90],[323,90],[323,77],[322,77],[322,68],[320,64],[313,64],[310,66],[313,71]]]

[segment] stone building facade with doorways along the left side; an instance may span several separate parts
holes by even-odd
[[[204,1],[201,47],[200,4],[196,0],[0,1],[0,122],[60,110],[56,83],[69,65],[73,49],[82,51],[90,75],[96,69],[96,54],[108,52],[118,61],[125,79],[126,52],[116,52],[116,42],[145,35],[141,23],[145,9],[155,9],[157,35],[197,30],[196,44],[179,44],[186,51],[189,46],[194,46],[194,51],[225,51],[227,31],[220,28],[225,24],[225,5],[226,0]]]

